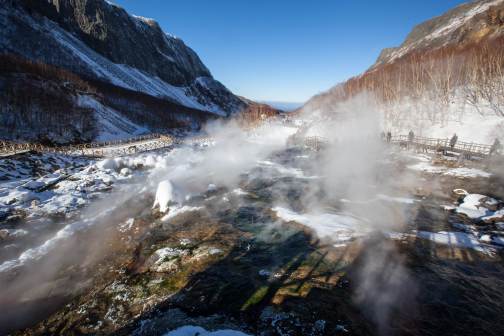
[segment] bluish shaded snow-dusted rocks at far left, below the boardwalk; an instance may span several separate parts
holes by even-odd
[[[126,200],[140,199],[149,191],[149,172],[162,159],[160,153],[144,153],[103,160],[61,154],[2,160],[0,243],[10,251],[7,255],[24,246],[18,245],[17,238],[29,238],[28,244],[35,245],[25,246],[14,259],[1,258],[0,271],[43,257],[76,233],[102,223]],[[119,230],[127,226],[118,223]],[[38,236],[47,240],[39,243]]]

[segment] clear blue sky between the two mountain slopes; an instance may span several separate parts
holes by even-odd
[[[366,70],[384,47],[462,0],[113,0],[194,49],[256,100],[302,102]]]

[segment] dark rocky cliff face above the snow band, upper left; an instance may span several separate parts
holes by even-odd
[[[22,0],[33,14],[74,34],[113,63],[126,64],[176,86],[211,77],[198,55],[151,19],[129,15],[103,0]]]

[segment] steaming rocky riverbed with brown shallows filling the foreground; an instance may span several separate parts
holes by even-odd
[[[4,333],[502,334],[504,195],[492,166],[387,151],[374,178],[395,183],[352,199],[327,190],[312,164],[323,151],[291,147],[162,213],[143,177],[173,168],[171,155],[90,163],[130,178],[97,196],[114,206],[78,207],[93,225],[51,229],[64,239],[33,260],[2,259]],[[2,255],[15,243],[6,236]]]

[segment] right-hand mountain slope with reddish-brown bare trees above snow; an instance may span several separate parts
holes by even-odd
[[[299,111],[334,115],[372,101],[382,129],[435,137],[454,132],[490,143],[504,130],[504,0],[463,4],[416,26],[363,74],[311,98]]]

